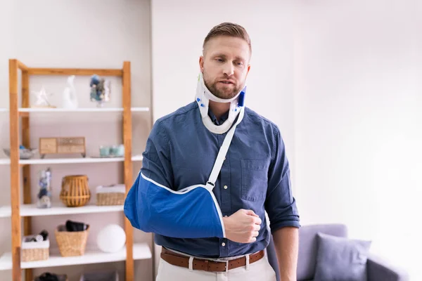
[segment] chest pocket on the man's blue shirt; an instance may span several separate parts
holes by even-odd
[[[268,187],[269,160],[242,160],[241,198],[249,201],[264,200]]]

